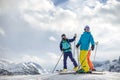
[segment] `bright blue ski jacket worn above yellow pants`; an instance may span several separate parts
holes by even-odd
[[[80,45],[80,50],[88,50],[90,43],[91,45],[95,45],[92,34],[90,32],[84,32],[77,44]]]

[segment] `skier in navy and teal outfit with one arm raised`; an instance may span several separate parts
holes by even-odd
[[[78,70],[78,65],[77,65],[75,59],[72,56],[72,48],[71,48],[71,44],[70,44],[71,42],[73,42],[76,39],[76,34],[74,35],[74,37],[72,39],[67,39],[65,34],[62,34],[61,38],[62,38],[62,40],[60,42],[60,50],[63,53],[63,65],[64,65],[63,66],[63,68],[64,68],[63,72],[67,71],[67,58],[68,57],[73,62],[73,65],[74,65],[73,70],[77,71]]]

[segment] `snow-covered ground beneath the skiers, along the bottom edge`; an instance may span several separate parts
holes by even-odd
[[[120,73],[106,72],[104,75],[96,74],[44,74],[28,76],[0,76],[0,80],[120,80]]]

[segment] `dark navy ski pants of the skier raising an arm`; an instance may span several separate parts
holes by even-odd
[[[73,62],[74,67],[77,67],[78,65],[77,65],[75,59],[72,56],[72,52],[64,52],[64,58],[63,58],[63,64],[64,64],[64,66],[63,66],[63,68],[67,69],[67,58],[68,57]]]

